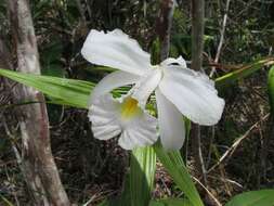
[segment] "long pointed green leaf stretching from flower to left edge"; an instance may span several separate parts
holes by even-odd
[[[81,108],[88,107],[90,92],[94,87],[94,83],[83,80],[24,74],[1,68],[0,75],[53,96],[52,103]]]

